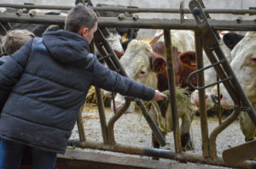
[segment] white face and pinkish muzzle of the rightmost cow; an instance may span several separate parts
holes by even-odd
[[[247,94],[247,98],[252,104],[256,104],[256,32],[248,32],[247,35],[237,43],[236,47],[231,51],[234,57],[230,66],[232,67],[242,89]],[[230,95],[224,86],[220,86],[222,99],[221,104],[224,107],[234,105]],[[216,93],[216,89],[212,89],[212,93]]]

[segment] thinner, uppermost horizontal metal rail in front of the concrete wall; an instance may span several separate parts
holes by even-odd
[[[0,7],[3,8],[40,8],[40,9],[59,9],[59,10],[69,10],[74,6],[52,6],[52,5],[20,5],[20,4],[10,4],[10,3],[0,3]],[[124,7],[90,7],[96,11],[113,11],[119,13],[174,13],[179,14],[179,8],[124,8]],[[189,8],[183,8],[183,14],[191,14]],[[256,14],[256,10],[241,9],[241,8],[204,8],[206,14]]]

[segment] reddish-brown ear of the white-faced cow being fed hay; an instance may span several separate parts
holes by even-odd
[[[151,69],[156,73],[162,73],[166,69],[166,59],[152,54],[150,58]]]

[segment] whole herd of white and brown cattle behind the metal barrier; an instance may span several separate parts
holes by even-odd
[[[102,5],[98,5],[102,6]],[[3,12],[3,11],[2,11]],[[48,12],[45,14],[62,14]],[[62,14],[66,15],[66,14]],[[106,13],[105,16],[118,16],[116,13]],[[127,17],[132,17],[127,15]],[[10,23],[15,29],[27,29],[35,33],[36,36],[41,36],[44,31],[55,31],[63,29],[62,25],[29,25],[29,24],[15,24]],[[3,30],[3,29],[0,29]],[[163,32],[157,30],[152,38],[152,42],[143,42],[137,40],[137,29],[114,29],[109,31],[109,37],[106,37],[116,54],[119,56],[119,61],[124,67],[127,75],[136,82],[142,82],[145,85],[154,87],[160,91],[168,90],[167,68],[166,68],[166,48],[163,38]],[[3,32],[0,32],[2,35]],[[121,36],[128,35],[128,41],[122,43]],[[195,111],[199,111],[198,91],[189,88],[187,78],[191,72],[196,70],[195,61],[195,34],[194,31],[172,30],[172,56],[174,76],[177,86],[186,88],[188,90],[187,97],[190,99],[191,110],[184,112],[177,107],[178,116],[182,119],[180,129],[183,149],[193,149],[189,135],[189,128],[193,121]],[[241,87],[247,94],[248,99],[253,104],[256,110],[256,33],[247,32],[245,36],[236,34],[235,32],[219,32],[221,39],[219,45],[224,51],[224,55],[230,62]],[[129,42],[129,43],[128,43]],[[128,44],[128,45],[127,45]],[[210,65],[207,55],[203,53],[204,66]],[[191,80],[194,86],[197,86],[197,77],[193,76]],[[205,84],[209,85],[216,82],[216,72],[213,69],[205,71]],[[216,87],[208,87],[206,89],[206,104],[207,110],[213,107],[211,97],[216,95]],[[229,94],[224,86],[220,86],[220,104],[224,108],[232,109],[234,104],[230,99]],[[125,103],[124,96],[116,95],[115,108],[119,110]],[[213,100],[215,101],[215,100]],[[134,111],[134,103],[129,108],[130,112]],[[160,103],[152,103],[149,112],[154,117],[154,120],[160,127],[161,132],[172,132],[172,112],[171,106],[165,106]],[[239,116],[241,131],[244,134],[246,141],[255,137],[256,128],[246,112],[241,112]],[[160,145],[156,142],[153,136],[154,147]]]

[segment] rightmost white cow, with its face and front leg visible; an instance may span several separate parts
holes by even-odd
[[[238,81],[241,84],[247,98],[256,110],[256,32],[247,32],[245,37],[241,39],[232,49],[231,55],[234,58],[230,66],[233,69]],[[216,87],[212,88],[212,95],[216,94]],[[234,103],[230,99],[229,93],[224,86],[220,85],[220,104],[226,108],[233,108]],[[241,132],[245,136],[245,140],[249,141],[255,137],[256,128],[250,120],[247,112],[241,111],[239,115]]]

